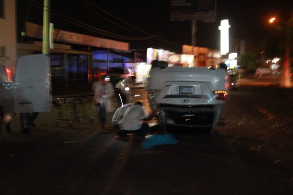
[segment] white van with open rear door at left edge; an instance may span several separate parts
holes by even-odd
[[[48,55],[19,58],[14,81],[10,69],[0,58],[0,135],[4,120],[9,122],[8,114],[48,112],[52,108],[51,96]]]

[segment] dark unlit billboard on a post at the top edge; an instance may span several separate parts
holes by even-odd
[[[214,17],[216,7],[217,0],[171,0],[170,17]]]

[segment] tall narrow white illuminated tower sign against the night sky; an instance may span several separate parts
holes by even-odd
[[[221,20],[219,30],[221,31],[221,55],[229,52],[229,20]]]

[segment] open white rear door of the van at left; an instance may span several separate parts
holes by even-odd
[[[22,56],[16,67],[15,113],[49,112],[52,108],[48,55]]]

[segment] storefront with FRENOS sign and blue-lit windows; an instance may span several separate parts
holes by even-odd
[[[18,56],[42,53],[42,26],[26,22],[26,36],[33,39],[18,44]],[[133,63],[129,43],[54,29],[54,48],[49,50],[52,87],[92,83],[97,70]]]

